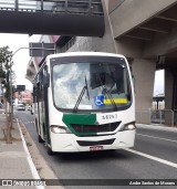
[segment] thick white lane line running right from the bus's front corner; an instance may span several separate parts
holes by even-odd
[[[136,155],[139,155],[139,156],[143,156],[143,157],[145,157],[145,158],[148,158],[148,159],[152,159],[152,160],[162,162],[162,164],[165,164],[165,165],[167,165],[167,166],[177,168],[177,164],[175,164],[175,162],[171,162],[171,161],[168,161],[168,160],[165,160],[165,159],[162,159],[162,158],[157,158],[157,157],[155,157],[155,156],[150,156],[150,155],[147,155],[147,154],[145,154],[145,153],[136,151],[136,150],[131,149],[131,148],[126,148],[126,149],[124,149],[124,150],[129,151],[129,153],[133,153],[133,154],[136,154]]]

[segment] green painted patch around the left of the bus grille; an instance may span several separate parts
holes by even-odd
[[[95,125],[96,123],[96,114],[64,114],[63,119],[64,124],[70,128],[70,130],[76,136],[88,136],[96,135],[96,133],[77,133],[71,126],[72,124],[79,125]]]

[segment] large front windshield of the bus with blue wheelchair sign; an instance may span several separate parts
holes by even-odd
[[[63,61],[52,65],[54,105],[67,111],[114,111],[132,101],[125,60]]]

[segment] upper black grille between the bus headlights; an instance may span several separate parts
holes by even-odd
[[[88,134],[88,133],[107,133],[114,132],[121,122],[103,124],[103,125],[81,125],[81,124],[71,124],[72,128],[77,134]]]

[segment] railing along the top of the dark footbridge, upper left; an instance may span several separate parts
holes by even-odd
[[[103,15],[101,0],[0,0],[0,10]]]

